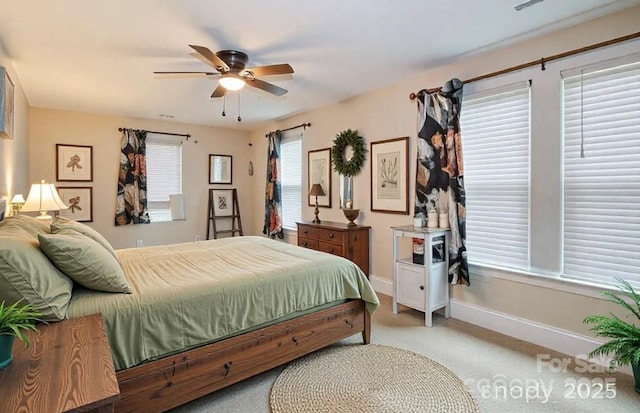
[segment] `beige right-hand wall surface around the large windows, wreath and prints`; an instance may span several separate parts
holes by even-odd
[[[255,202],[258,208],[252,212],[254,231],[262,229],[262,208],[258,201],[261,201],[263,196],[266,168],[264,159],[266,152],[265,132],[287,128],[302,122],[311,122],[312,126],[307,129],[303,138],[303,171],[307,170],[306,159],[309,150],[330,147],[336,133],[347,128],[358,129],[359,134],[365,138],[367,143],[409,136],[410,159],[415,159],[416,105],[408,99],[410,92],[442,85],[451,77],[469,79],[525,61],[536,60],[542,56],[550,56],[634,33],[638,29],[638,21],[640,21],[640,8],[625,10],[499,51],[467,56],[456,63],[426,72],[415,78],[403,80],[393,86],[302,113],[254,131],[251,135],[254,150],[256,154],[261,154],[254,160],[257,174],[260,176],[254,181],[256,185],[252,191],[252,195],[258,197]],[[640,51],[637,44],[631,46],[635,52]],[[605,56],[606,52],[606,50],[602,50],[598,53]],[[548,67],[552,66],[548,65]],[[533,74],[536,77],[534,83],[541,80],[544,83],[542,88],[558,90],[559,78],[552,78],[550,70],[546,73],[538,69],[535,70],[537,73]],[[473,84],[470,87],[473,87]],[[544,109],[546,102],[536,102],[535,99],[534,94],[532,97],[533,110],[542,112],[536,113],[534,116],[537,119],[543,119],[543,121],[532,126],[531,139],[531,167],[535,171],[531,183],[532,266],[540,271],[557,273],[561,248],[559,231],[557,230],[561,224],[558,214],[561,206],[561,197],[559,196],[561,181],[558,174],[553,171],[558,170],[561,161],[560,151],[558,151],[558,148],[561,148],[561,124],[557,110],[559,95],[554,113],[550,113],[549,109]],[[550,156],[550,152],[556,153],[556,156]],[[550,164],[547,165],[547,163]],[[378,277],[383,283],[385,281],[389,283],[393,277],[393,248],[390,227],[409,225],[412,218],[408,215],[399,216],[370,211],[369,171],[370,165],[367,160],[362,173],[354,179],[354,207],[361,210],[358,222],[372,227],[371,274],[374,279]],[[415,163],[413,161],[410,162],[409,177],[410,182],[413,182],[415,179]],[[320,217],[324,220],[346,222],[338,208],[337,173],[333,173],[332,180],[334,185],[331,196],[334,206],[331,209],[321,209]],[[308,183],[306,173],[303,172],[303,188],[305,187],[308,187]],[[414,188],[412,184],[411,191]],[[411,210],[413,210],[413,199]],[[303,198],[303,219],[311,220],[312,217],[313,208],[307,207],[306,198]],[[295,238],[293,242],[295,242]],[[606,313],[610,310],[606,302],[595,298],[597,289],[583,289],[578,292],[563,282],[555,282],[555,286],[558,286],[559,289],[554,286],[551,288],[542,287],[532,285],[536,284],[535,277],[492,269],[486,270],[486,276],[480,277],[477,276],[477,273],[472,276],[470,288],[462,286],[452,288],[453,299],[561,329],[588,334],[587,328],[582,325],[582,319],[594,312]]]

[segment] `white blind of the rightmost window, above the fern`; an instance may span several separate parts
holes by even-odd
[[[563,274],[640,285],[640,56],[625,60],[562,73]]]

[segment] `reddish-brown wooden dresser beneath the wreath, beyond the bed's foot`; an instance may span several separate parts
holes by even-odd
[[[298,222],[298,245],[347,258],[369,277],[369,231],[367,226],[340,222]]]

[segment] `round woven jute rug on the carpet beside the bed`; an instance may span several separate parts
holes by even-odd
[[[271,389],[273,413],[477,413],[462,380],[396,347],[332,347],[292,362]]]

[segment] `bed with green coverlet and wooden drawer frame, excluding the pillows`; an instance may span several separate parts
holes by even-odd
[[[114,253],[132,293],[74,285],[65,317],[103,315],[118,412],[166,411],[354,334],[370,340],[378,300],[346,259],[262,237]]]

